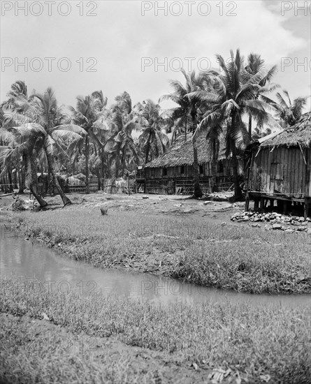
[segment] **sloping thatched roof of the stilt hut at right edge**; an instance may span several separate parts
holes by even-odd
[[[311,112],[305,113],[294,125],[261,143],[261,147],[310,147],[311,145]]]

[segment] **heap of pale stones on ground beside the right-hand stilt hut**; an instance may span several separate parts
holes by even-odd
[[[251,221],[256,223],[256,226],[260,226],[260,223],[269,223],[268,229],[284,230],[287,232],[308,232],[308,228],[311,228],[311,219],[301,216],[285,216],[278,214],[277,212],[259,213],[259,212],[236,212],[231,216],[231,221]],[[254,224],[252,226],[255,226]],[[290,226],[290,227],[289,227]],[[294,226],[294,228],[292,227]]]

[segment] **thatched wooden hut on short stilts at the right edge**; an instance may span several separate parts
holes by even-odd
[[[255,200],[282,200],[288,205],[303,203],[305,216],[311,204],[311,112],[294,126],[260,140],[252,149],[249,171],[249,196]]]

